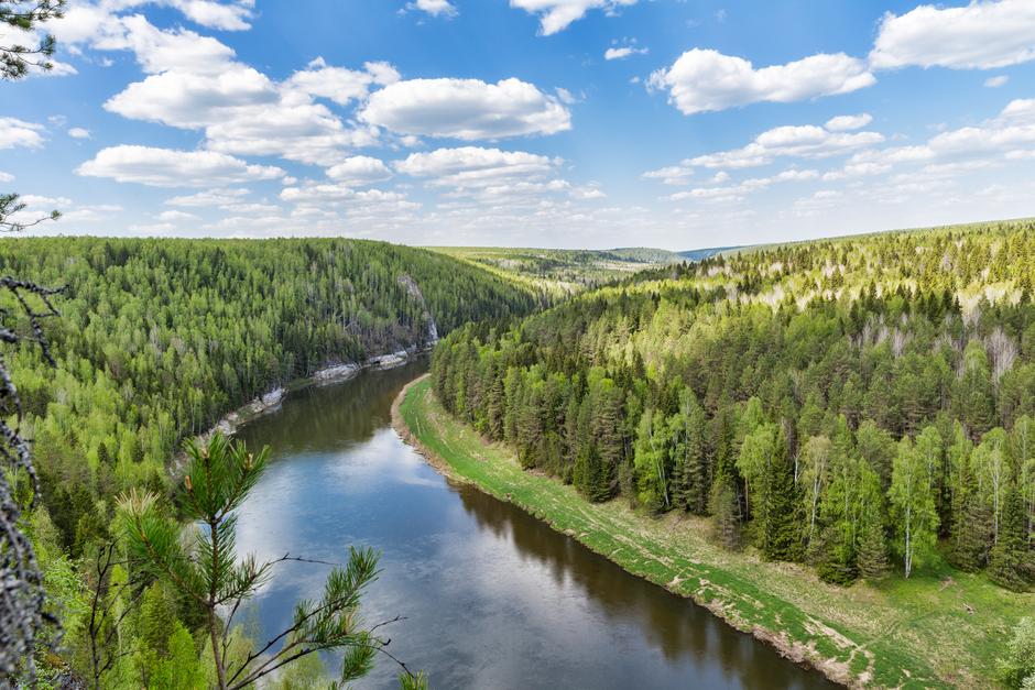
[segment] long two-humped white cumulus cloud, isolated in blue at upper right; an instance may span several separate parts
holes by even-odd
[[[671,103],[684,114],[694,114],[760,101],[786,103],[848,94],[875,83],[863,61],[843,53],[755,69],[742,57],[694,48],[651,75],[649,86],[668,91]]]

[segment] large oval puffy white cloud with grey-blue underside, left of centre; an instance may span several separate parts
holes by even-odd
[[[571,116],[556,97],[514,78],[399,81],[371,95],[359,117],[400,134],[466,141],[571,129]]]

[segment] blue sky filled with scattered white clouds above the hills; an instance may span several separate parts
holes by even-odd
[[[53,73],[0,84],[0,187],[65,212],[34,232],[689,249],[1035,215],[1031,0],[69,7]]]

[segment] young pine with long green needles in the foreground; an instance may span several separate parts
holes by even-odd
[[[328,649],[341,649],[342,682],[367,675],[378,654],[392,657],[385,640],[366,628],[360,616],[363,591],[378,577],[378,554],[369,548],[350,549],[349,561],[335,567],[317,601],[295,606],[292,625],[259,648],[241,655],[231,651],[231,625],[241,604],[272,576],[283,558],[259,562],[249,555],[239,559],[236,546],[236,511],[265,470],[268,449],[258,456],[243,443],[216,435],[207,446],[188,441],[187,474],[181,494],[184,517],[199,525],[196,536],[184,544],[181,525],[159,508],[157,497],[131,492],[119,503],[121,533],[131,555],[154,578],[178,590],[204,611],[208,644],[220,690],[244,688],[293,661]],[[314,561],[306,561],[314,562]],[[220,615],[228,611],[226,620]],[[405,683],[411,677],[401,661]]]

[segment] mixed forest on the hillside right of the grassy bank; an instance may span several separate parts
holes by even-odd
[[[776,247],[435,352],[438,398],[591,501],[838,583],[1035,581],[1035,223]],[[940,545],[940,547],[939,547]]]

